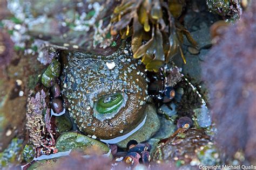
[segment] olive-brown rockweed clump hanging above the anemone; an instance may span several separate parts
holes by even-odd
[[[114,9],[111,34],[119,31],[121,37],[132,36],[133,58],[142,59],[146,69],[158,72],[181,50],[183,35],[194,46],[197,42],[186,28],[175,19],[181,15],[185,1],[140,0],[127,1]]]

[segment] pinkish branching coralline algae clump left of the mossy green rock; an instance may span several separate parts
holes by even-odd
[[[29,132],[30,143],[36,148],[38,156],[57,152],[55,133],[50,122],[50,109],[47,108],[45,98],[44,90],[37,92],[35,97],[30,94],[26,111],[26,129]]]

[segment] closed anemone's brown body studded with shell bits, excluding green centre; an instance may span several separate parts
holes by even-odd
[[[141,62],[132,59],[129,46],[123,44],[108,56],[69,52],[66,59],[62,93],[80,131],[112,139],[130,132],[143,121],[147,79]],[[111,114],[97,112],[97,101],[114,94],[123,96],[120,107]]]

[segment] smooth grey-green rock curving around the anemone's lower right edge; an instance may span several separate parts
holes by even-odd
[[[147,114],[147,118],[142,128],[125,140],[117,143],[117,146],[126,148],[126,145],[130,140],[136,140],[138,143],[142,143],[152,137],[153,134],[159,130],[160,120],[157,116],[156,108],[153,105],[147,105],[145,113]]]

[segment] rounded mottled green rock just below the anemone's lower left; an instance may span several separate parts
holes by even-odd
[[[76,132],[63,133],[56,141],[56,148],[58,149],[58,152],[69,150],[86,151],[92,146],[98,147],[103,153],[109,152],[109,147],[104,143]]]

